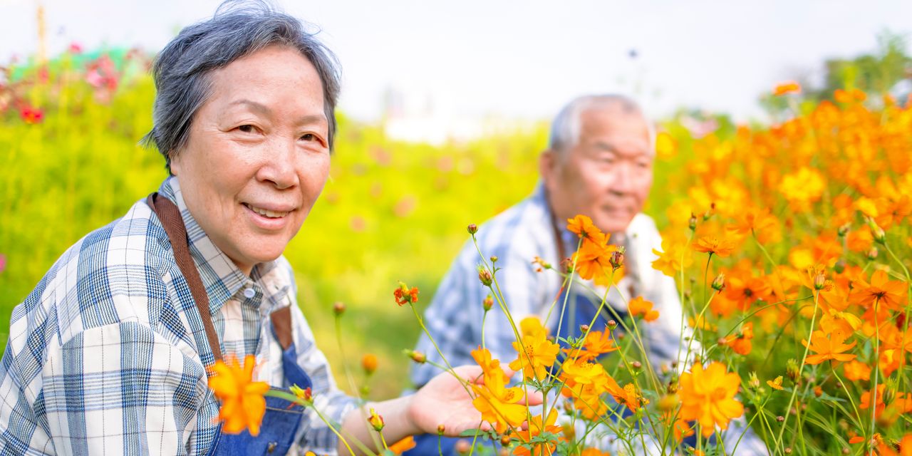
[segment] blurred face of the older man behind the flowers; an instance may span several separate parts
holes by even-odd
[[[611,103],[583,111],[580,127],[571,149],[542,155],[540,169],[554,213],[560,220],[588,215],[602,231],[623,233],[652,187],[646,120]]]

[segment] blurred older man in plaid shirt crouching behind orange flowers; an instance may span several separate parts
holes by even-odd
[[[561,321],[562,337],[579,336],[579,325],[592,321],[601,302],[595,294],[575,285],[565,300],[560,294],[563,278],[542,274],[533,263],[541,257],[559,264],[575,251],[578,239],[567,231],[566,222],[576,214],[591,217],[598,228],[611,234],[611,244],[626,248],[626,275],[612,287],[607,297],[612,309],[598,316],[594,329],[625,316],[625,303],[642,296],[658,310],[656,321],[639,326],[652,366],[670,368],[684,358],[679,353],[683,327],[679,291],[672,278],[651,267],[652,249],[659,248],[661,239],[655,223],[641,212],[652,187],[653,158],[653,131],[631,99],[581,97],[560,111],[548,149],[539,159],[541,183],[525,201],[479,227],[479,249],[471,241],[463,246],[427,309],[424,321],[451,365],[471,364],[470,352],[482,344],[482,301],[489,290],[478,278],[478,250],[498,257],[500,290],[516,321],[525,316],[545,320],[555,302],[546,321],[553,333]],[[562,309],[564,302],[568,304]],[[563,319],[558,317],[560,312]],[[483,331],[493,358],[503,362],[516,358],[513,329],[503,312],[495,308],[489,313]],[[418,350],[440,362],[428,337],[420,338]],[[430,364],[416,365],[412,379],[423,385],[435,373]],[[419,454],[424,444],[420,440],[413,453]]]

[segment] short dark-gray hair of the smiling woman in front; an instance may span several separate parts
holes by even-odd
[[[169,172],[171,159],[187,144],[193,116],[211,95],[212,70],[271,45],[295,48],[316,67],[329,122],[327,142],[333,149],[339,94],[336,56],[294,17],[261,0],[228,0],[212,19],[184,27],[155,57],[152,130],[142,142],[155,144]]]

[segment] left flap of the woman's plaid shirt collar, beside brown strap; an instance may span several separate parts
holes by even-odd
[[[214,315],[222,308],[224,303],[235,295],[250,277],[237,267],[236,264],[224,254],[196,222],[186,202],[183,201],[181,184],[174,176],[161,183],[159,194],[174,202],[181,211],[184,227],[187,229],[187,239],[190,243],[190,254],[196,269],[200,272],[202,285],[209,295],[209,310]],[[272,262],[270,262],[272,263]],[[258,264],[254,269],[263,267],[271,269],[271,264]],[[255,275],[254,275],[255,276]]]

